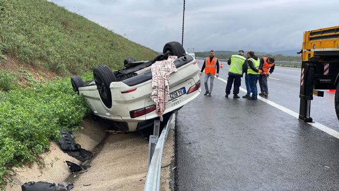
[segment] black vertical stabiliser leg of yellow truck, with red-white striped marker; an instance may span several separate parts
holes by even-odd
[[[315,63],[302,63],[300,83],[300,110],[299,119],[304,122],[312,122],[310,117],[311,100],[313,99],[313,78]]]

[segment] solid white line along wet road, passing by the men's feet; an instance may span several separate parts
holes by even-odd
[[[219,79],[219,80],[221,80],[221,81],[227,83],[226,80],[224,80],[224,79],[222,79],[222,78],[220,78],[220,77],[217,78],[217,79]],[[241,90],[242,92],[247,93],[247,90],[245,90],[245,89],[243,89],[243,88],[241,88],[241,87],[240,87],[240,90]],[[267,104],[270,104],[270,105],[272,105],[273,107],[275,107],[275,108],[277,108],[277,109],[279,109],[279,110],[281,110],[281,111],[283,111],[283,112],[285,112],[285,113],[287,113],[287,114],[289,114],[289,115],[291,115],[291,116],[293,116],[293,117],[299,119],[299,114],[296,113],[296,112],[293,112],[292,110],[289,110],[289,109],[287,109],[287,108],[285,108],[285,107],[283,107],[283,106],[281,106],[281,105],[279,105],[279,104],[277,104],[277,103],[275,103],[275,102],[273,102],[273,101],[270,101],[270,100],[265,99],[265,98],[260,97],[260,96],[258,96],[258,99],[260,99],[261,101],[266,102]],[[321,131],[323,131],[323,132],[325,132],[325,133],[327,133],[327,134],[329,134],[329,135],[331,135],[331,136],[333,136],[333,137],[339,139],[339,132],[337,132],[337,131],[335,131],[335,130],[332,130],[331,128],[328,128],[327,126],[325,126],[325,125],[323,125],[323,124],[321,124],[321,123],[314,122],[314,123],[308,123],[308,124],[312,125],[314,128],[317,128],[317,129],[319,129],[319,130],[321,130]]]

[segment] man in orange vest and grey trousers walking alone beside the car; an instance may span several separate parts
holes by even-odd
[[[202,72],[205,69],[205,94],[211,97],[212,89],[213,89],[213,81],[214,81],[214,75],[216,77],[219,77],[219,61],[218,58],[214,57],[214,50],[210,51],[210,57],[206,57],[204,61],[204,65],[202,65],[200,76],[202,76]],[[210,89],[208,89],[208,78],[211,78],[210,80]]]

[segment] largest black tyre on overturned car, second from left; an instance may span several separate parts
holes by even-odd
[[[99,91],[100,98],[107,108],[112,107],[112,95],[109,89],[109,85],[113,81],[117,81],[114,73],[108,66],[103,65],[93,70],[93,77],[97,89]]]

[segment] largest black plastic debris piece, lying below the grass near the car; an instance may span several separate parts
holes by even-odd
[[[93,154],[90,151],[81,148],[80,144],[74,142],[74,135],[71,132],[61,130],[60,134],[62,135],[62,138],[59,139],[59,144],[62,151],[67,152],[67,154],[82,162],[93,157]]]

